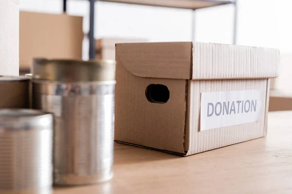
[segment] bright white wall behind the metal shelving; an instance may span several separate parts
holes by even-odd
[[[291,0],[237,0],[237,44],[292,52]],[[20,0],[20,10],[61,13],[62,0]],[[196,41],[232,43],[233,6],[196,11]],[[68,14],[84,16],[89,30],[89,2],[68,0]],[[190,41],[192,11],[110,2],[96,3],[95,38],[130,37],[149,41]],[[87,54],[87,41],[84,41]]]

